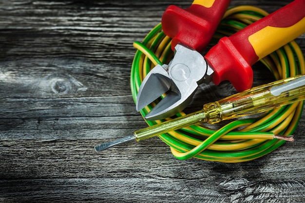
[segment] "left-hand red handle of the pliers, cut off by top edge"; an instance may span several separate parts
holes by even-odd
[[[181,43],[202,52],[210,40],[231,0],[194,0],[187,9],[169,6],[162,16],[162,29],[172,38],[172,50]]]

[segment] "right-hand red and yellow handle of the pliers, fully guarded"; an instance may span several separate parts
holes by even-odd
[[[229,80],[239,92],[251,88],[251,66],[303,33],[305,0],[294,0],[230,37],[221,38],[205,55],[214,69],[213,83]]]

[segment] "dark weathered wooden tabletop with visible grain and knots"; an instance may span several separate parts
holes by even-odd
[[[272,12],[291,0],[232,0]],[[0,0],[0,202],[305,202],[305,116],[257,160],[176,160],[158,138],[96,153],[146,127],[130,90],[133,41],[191,0]],[[305,53],[305,36],[297,39]],[[255,66],[255,84],[271,74]],[[213,101],[233,92],[205,86]],[[189,111],[199,108],[195,100]]]

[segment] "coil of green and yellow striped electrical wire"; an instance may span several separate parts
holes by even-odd
[[[212,41],[230,36],[257,21],[267,12],[254,6],[236,6],[228,9],[220,22]],[[173,56],[171,38],[162,32],[161,24],[139,42],[131,71],[131,89],[134,102],[143,78],[157,64],[168,63]],[[292,41],[260,60],[274,75],[275,80],[297,74],[305,74],[305,60],[300,47]],[[142,116],[149,112],[155,103],[140,111]],[[291,135],[295,131],[302,112],[304,101],[276,108],[256,118],[233,120],[220,129],[213,130],[204,124],[196,124],[180,130],[159,135],[170,146],[178,159],[198,158],[207,161],[237,163],[259,158],[283,145],[286,141],[270,139],[273,134]],[[184,112],[176,116],[185,115]],[[166,120],[171,119],[167,118]],[[164,120],[148,121],[152,126]]]

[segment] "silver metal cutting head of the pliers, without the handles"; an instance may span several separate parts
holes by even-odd
[[[198,85],[209,83],[213,73],[200,53],[177,44],[169,65],[155,66],[144,78],[137,95],[136,110],[140,111],[166,93],[145,118],[158,120],[170,117],[191,102]]]

